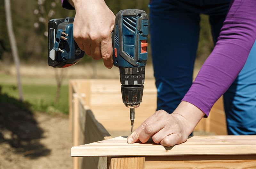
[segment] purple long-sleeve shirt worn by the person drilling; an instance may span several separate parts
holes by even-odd
[[[74,9],[67,0],[62,6]],[[244,67],[256,39],[256,0],[233,0],[218,41],[182,101],[190,102],[206,116]]]

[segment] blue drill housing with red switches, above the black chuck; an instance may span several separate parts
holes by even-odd
[[[145,52],[147,49],[141,50],[147,48],[147,46],[142,47],[141,45],[147,45],[143,42],[148,40],[148,19],[139,20],[136,15],[123,16],[122,14],[120,12],[122,16],[120,23],[116,19],[114,35],[112,36],[112,39],[114,39],[113,64],[116,67],[145,67],[148,53]],[[140,27],[137,22],[140,22]],[[119,32],[120,28],[122,32]],[[121,43],[119,37],[121,37]]]

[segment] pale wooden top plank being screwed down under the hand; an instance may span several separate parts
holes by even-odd
[[[71,156],[170,156],[170,155],[256,154],[256,136],[193,136],[185,143],[164,147],[149,140],[128,144],[116,137],[71,148]]]

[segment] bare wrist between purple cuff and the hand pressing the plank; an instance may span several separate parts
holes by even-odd
[[[204,117],[204,112],[197,108],[195,105],[182,101],[179,106],[172,113],[177,118],[184,121],[187,125],[187,134],[189,135],[196,127],[197,123]]]

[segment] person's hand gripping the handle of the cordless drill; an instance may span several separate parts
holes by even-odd
[[[69,0],[71,1],[71,0]],[[107,68],[113,66],[111,33],[115,15],[104,0],[72,0],[76,10],[74,39],[81,50],[94,60],[103,59]]]

